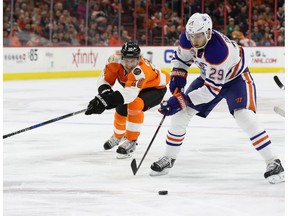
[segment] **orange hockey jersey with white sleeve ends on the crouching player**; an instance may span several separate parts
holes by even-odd
[[[128,104],[138,96],[142,89],[164,88],[170,80],[170,75],[156,68],[142,56],[138,66],[127,72],[121,64],[121,55],[115,54],[108,59],[97,86],[103,84],[113,86],[116,80],[123,86],[119,92],[123,96],[124,104]]]

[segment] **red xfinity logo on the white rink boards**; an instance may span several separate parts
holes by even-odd
[[[98,53],[94,53],[92,50],[90,52],[81,52],[81,49],[78,49],[76,53],[72,53],[72,56],[72,64],[75,64],[76,67],[80,64],[92,64],[95,67]]]

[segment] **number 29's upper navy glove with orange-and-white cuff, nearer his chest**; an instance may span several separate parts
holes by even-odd
[[[173,94],[175,89],[178,88],[180,92],[184,92],[184,86],[186,85],[187,71],[184,69],[173,68],[171,71],[171,79],[169,83],[170,92]]]

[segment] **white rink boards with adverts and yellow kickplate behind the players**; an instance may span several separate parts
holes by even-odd
[[[177,47],[141,47],[142,55],[157,67],[170,71]],[[3,79],[46,79],[99,76],[107,59],[121,47],[19,47],[3,48]],[[285,70],[284,47],[245,47],[252,73]],[[198,73],[193,65],[189,73]]]

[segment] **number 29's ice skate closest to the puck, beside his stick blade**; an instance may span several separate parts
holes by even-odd
[[[173,167],[176,159],[164,156],[151,165],[150,176],[161,176],[168,174],[170,168]]]

